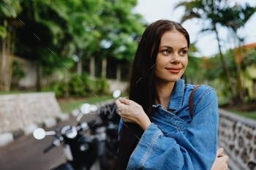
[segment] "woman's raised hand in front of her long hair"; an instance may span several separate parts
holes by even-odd
[[[127,98],[118,98],[116,100],[118,114],[128,123],[137,123],[145,131],[151,124],[148,115],[144,112],[140,104]]]

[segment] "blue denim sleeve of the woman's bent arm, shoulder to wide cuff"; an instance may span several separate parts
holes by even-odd
[[[217,95],[208,88],[203,94],[195,93],[194,98],[194,117],[187,129],[170,138],[151,123],[132,152],[127,169],[211,169],[217,154]]]

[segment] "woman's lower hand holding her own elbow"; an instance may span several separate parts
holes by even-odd
[[[223,148],[217,150],[217,158],[214,161],[211,170],[227,170],[227,160],[229,159],[227,155],[223,155]]]

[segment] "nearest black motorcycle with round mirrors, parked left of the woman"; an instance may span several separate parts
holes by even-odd
[[[80,114],[78,114],[78,125],[66,125],[63,128],[57,127],[55,131],[45,131],[43,128],[36,128],[33,132],[35,139],[43,139],[47,135],[53,135],[54,139],[50,146],[43,152],[48,152],[53,147],[62,145],[64,157],[67,162],[62,163],[55,170],[89,170],[93,166],[100,167],[101,170],[109,169],[105,156],[106,128],[97,124],[97,120],[80,123],[83,114],[95,112],[97,107],[90,104],[82,104]],[[82,132],[90,131],[89,135]],[[99,168],[98,168],[99,169]]]

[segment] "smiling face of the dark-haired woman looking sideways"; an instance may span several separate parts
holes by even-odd
[[[154,66],[154,74],[161,82],[176,82],[187,68],[187,39],[179,31],[162,35]]]

